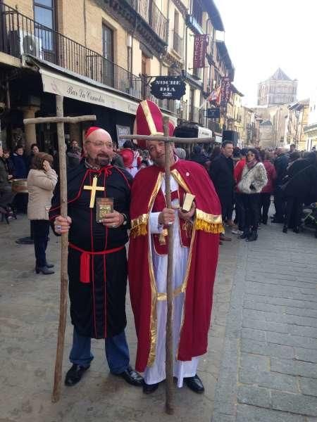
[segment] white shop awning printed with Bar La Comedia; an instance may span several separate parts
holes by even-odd
[[[74,100],[84,101],[85,103],[104,106],[113,110],[119,110],[123,113],[135,115],[137,113],[137,101],[124,98],[111,91],[92,87],[76,79],[61,75],[57,72],[51,72],[45,68],[40,68],[44,92],[62,95]]]

